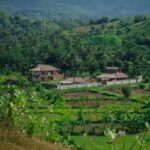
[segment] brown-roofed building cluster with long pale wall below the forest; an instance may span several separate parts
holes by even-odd
[[[43,84],[54,84],[59,88],[92,87],[113,84],[130,84],[142,82],[142,76],[130,79],[127,74],[118,67],[106,67],[105,72],[95,77],[66,77],[61,70],[54,66],[39,64],[30,69],[31,80]],[[70,86],[71,85],[71,86]],[[74,86],[73,86],[74,85]],[[78,86],[76,86],[78,85]]]

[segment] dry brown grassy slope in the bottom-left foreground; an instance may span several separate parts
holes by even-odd
[[[4,129],[3,129],[4,130]],[[7,133],[0,129],[0,149],[1,150],[70,150],[60,144],[44,142],[37,138],[29,138],[18,131],[10,131]],[[7,140],[2,140],[6,139]]]

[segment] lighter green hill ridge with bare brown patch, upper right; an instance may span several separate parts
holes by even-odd
[[[137,20],[137,21],[136,21]],[[70,31],[67,31],[70,35],[89,35],[89,34],[117,34],[118,30],[122,30],[119,35],[123,34],[123,31],[128,27],[130,28],[130,32],[124,33],[132,33],[134,30],[135,32],[140,32],[140,28],[145,24],[149,26],[150,16],[137,16],[137,17],[128,17],[124,19],[115,19],[114,21],[110,20],[106,23],[89,23],[86,26],[79,26],[73,28]],[[145,27],[148,29],[148,27]],[[142,31],[141,31],[142,32]]]

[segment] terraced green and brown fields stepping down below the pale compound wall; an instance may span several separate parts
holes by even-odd
[[[149,107],[146,108],[150,101],[150,91],[146,88],[139,89],[137,85],[133,85],[129,98],[123,97],[119,86],[72,89],[61,91],[61,96],[62,100],[53,104],[47,98],[29,101],[28,114],[36,116],[38,122],[46,120],[50,125],[55,124],[58,128],[61,126],[63,134],[70,137],[71,143],[85,150],[111,149],[112,145],[104,136],[104,130],[108,128],[116,129],[116,132],[126,131],[125,137],[117,138],[117,145],[121,148],[125,142],[126,149],[129,149],[136,141],[136,133],[143,132],[144,127],[141,126],[145,126],[150,119]],[[43,136],[46,130],[43,131],[41,126],[37,126],[35,136]],[[87,136],[84,137],[84,133]],[[150,146],[149,139],[150,134],[147,133],[146,150]],[[136,143],[134,149],[138,146]]]

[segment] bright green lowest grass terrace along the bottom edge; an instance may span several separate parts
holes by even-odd
[[[117,139],[117,147],[118,149],[122,149],[125,142],[125,149],[130,149],[133,144],[136,141],[136,136],[139,135],[128,135],[125,137],[120,137]],[[143,135],[142,135],[143,136]],[[71,137],[76,145],[80,145],[81,148],[86,150],[111,150],[112,145],[108,144],[109,139],[107,137],[103,136],[89,136],[89,137],[83,137],[83,136],[72,136]],[[132,150],[139,149],[139,145],[134,145]],[[147,134],[145,139],[145,145],[144,149],[149,150],[150,147],[150,133]]]

